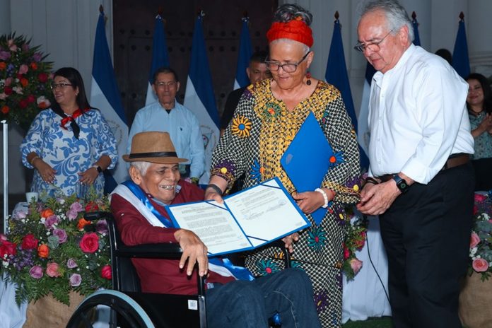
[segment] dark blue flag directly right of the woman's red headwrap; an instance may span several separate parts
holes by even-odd
[[[352,120],[352,125],[357,131],[357,116],[353,107],[350,82],[348,81],[347,66],[345,64],[344,43],[341,40],[340,21],[336,18],[333,29],[332,45],[329,47],[327,71],[324,74],[327,82],[336,86],[340,90],[341,98],[344,99],[345,107]],[[368,168],[369,160],[365,151],[359,146],[361,151],[361,166]]]

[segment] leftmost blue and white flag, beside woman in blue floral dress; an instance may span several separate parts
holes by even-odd
[[[127,149],[128,124],[116,83],[110,49],[107,45],[102,8],[98,26],[95,29],[92,77],[90,105],[101,111],[117,141],[118,163],[116,168],[105,171],[105,192],[111,192],[118,183],[128,178],[127,165],[124,165],[121,160],[122,154]]]

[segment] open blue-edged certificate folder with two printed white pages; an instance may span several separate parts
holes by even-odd
[[[176,227],[192,230],[209,256],[252,250],[310,226],[279,178],[216,201],[166,206]]]

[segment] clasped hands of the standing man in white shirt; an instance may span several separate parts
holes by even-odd
[[[399,191],[394,180],[379,185],[368,183],[362,189],[361,201],[357,204],[357,209],[371,216],[380,215],[385,213],[399,194],[402,192]]]

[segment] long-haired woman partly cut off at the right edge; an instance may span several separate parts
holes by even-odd
[[[492,90],[488,79],[472,73],[467,77],[468,115],[475,141],[472,164],[475,169],[475,190],[492,189]]]

